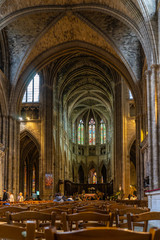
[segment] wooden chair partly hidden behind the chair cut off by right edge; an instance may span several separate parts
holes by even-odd
[[[127,214],[140,214],[144,212],[149,212],[148,208],[126,208],[126,209],[117,209],[115,212],[116,227],[128,228]],[[135,226],[143,227],[144,224],[135,224]]]

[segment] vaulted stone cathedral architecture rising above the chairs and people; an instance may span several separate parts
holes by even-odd
[[[158,0],[0,1],[0,196],[160,187],[159,26]]]

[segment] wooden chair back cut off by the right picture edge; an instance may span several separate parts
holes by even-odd
[[[134,230],[134,224],[143,222],[143,231],[147,232],[148,221],[160,220],[160,212],[146,212],[141,214],[127,214],[128,229]]]

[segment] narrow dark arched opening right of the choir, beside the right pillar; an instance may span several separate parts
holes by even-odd
[[[136,185],[136,140],[130,149],[130,185]]]

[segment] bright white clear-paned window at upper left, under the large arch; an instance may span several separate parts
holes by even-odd
[[[36,74],[27,86],[27,89],[23,95],[22,103],[39,102],[39,85],[39,75]]]

